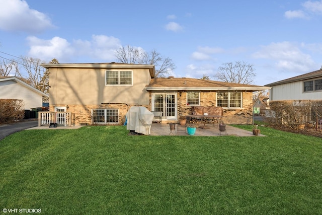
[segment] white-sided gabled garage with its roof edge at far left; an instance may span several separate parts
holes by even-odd
[[[0,99],[20,99],[24,101],[24,109],[42,107],[42,98],[47,94],[16,77],[0,77]]]

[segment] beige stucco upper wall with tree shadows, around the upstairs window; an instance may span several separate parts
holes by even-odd
[[[106,70],[131,70],[133,86],[105,86]],[[102,103],[149,104],[144,89],[148,69],[50,68],[49,103],[98,105]]]

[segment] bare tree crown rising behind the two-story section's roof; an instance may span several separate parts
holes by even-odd
[[[141,48],[127,45],[115,52],[116,58],[122,63],[153,64],[155,65],[155,76],[165,77],[176,68],[172,59],[162,57],[155,49],[149,53]]]

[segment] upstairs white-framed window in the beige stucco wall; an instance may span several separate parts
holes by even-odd
[[[132,71],[106,71],[106,85],[132,85]]]

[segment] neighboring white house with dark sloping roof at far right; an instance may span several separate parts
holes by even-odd
[[[322,69],[265,85],[270,101],[322,100]]]

